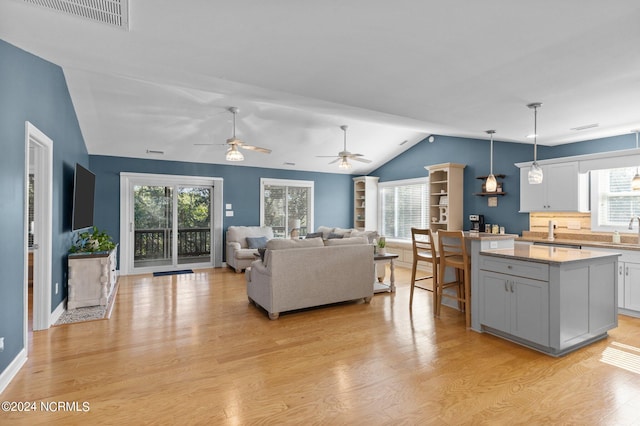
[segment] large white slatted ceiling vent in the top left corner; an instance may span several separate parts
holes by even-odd
[[[129,0],[24,0],[47,9],[129,29]]]

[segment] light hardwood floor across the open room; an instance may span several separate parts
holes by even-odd
[[[387,275],[388,276],[388,275]],[[227,269],[121,277],[109,320],[33,333],[0,424],[640,424],[640,319],[563,358],[467,331],[396,269],[397,293],[283,314]],[[608,361],[608,362],[605,362]],[[612,365],[617,364],[617,365]]]

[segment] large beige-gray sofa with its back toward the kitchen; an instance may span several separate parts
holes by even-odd
[[[325,245],[326,244],[326,245]],[[247,269],[249,301],[281,312],[373,296],[373,245],[365,238],[271,240]]]

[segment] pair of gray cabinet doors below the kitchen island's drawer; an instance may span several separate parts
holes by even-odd
[[[480,271],[480,322],[493,329],[549,346],[549,283]]]

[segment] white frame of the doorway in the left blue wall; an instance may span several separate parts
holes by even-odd
[[[33,148],[33,161],[30,150]],[[29,326],[29,167],[34,166],[33,330],[51,326],[51,235],[53,212],[53,141],[30,122],[25,122],[24,197],[24,335],[28,345]]]

